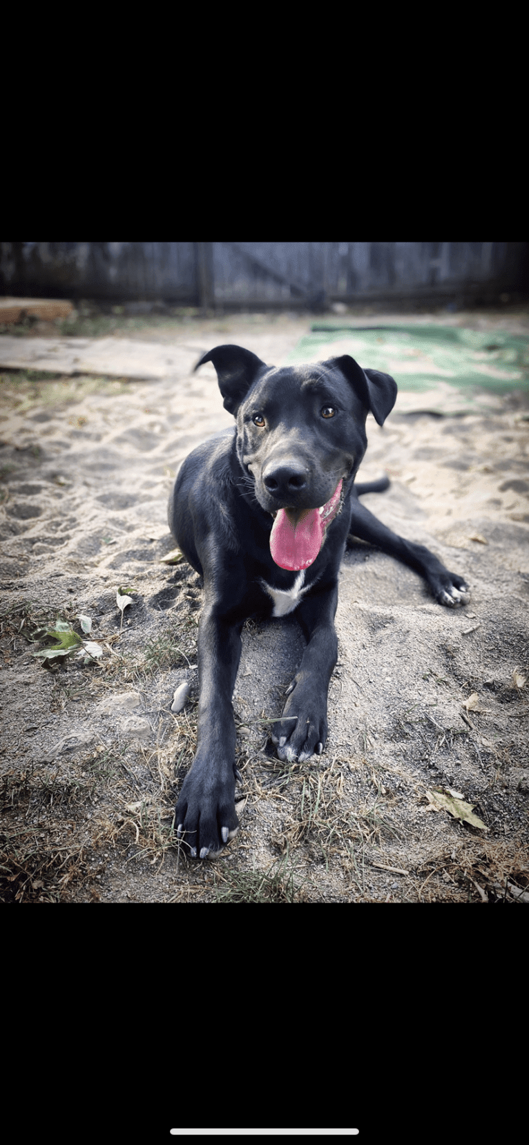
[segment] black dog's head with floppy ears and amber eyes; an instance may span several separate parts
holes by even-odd
[[[317,555],[364,456],[368,413],[382,425],[395,404],[394,379],[363,370],[348,354],[276,369],[240,346],[216,346],[195,369],[205,362],[213,363],[224,406],[237,420],[238,459],[259,504],[283,523],[286,513],[286,532],[321,534]],[[315,559],[300,550],[294,559],[301,564],[284,564],[283,547],[282,559],[274,547],[273,555],[284,568]]]

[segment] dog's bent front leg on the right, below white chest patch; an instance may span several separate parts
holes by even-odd
[[[289,688],[283,718],[274,725],[279,759],[310,759],[321,755],[327,737],[327,692],[338,660],[334,615],[338,586],[307,597],[295,610],[307,647]]]

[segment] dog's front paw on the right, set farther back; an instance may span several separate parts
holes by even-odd
[[[279,759],[303,763],[322,755],[327,739],[326,697],[292,681],[282,719],[274,725],[273,743]]]

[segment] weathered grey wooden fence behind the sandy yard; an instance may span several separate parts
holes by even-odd
[[[528,295],[529,243],[1,243],[0,293],[319,309]]]

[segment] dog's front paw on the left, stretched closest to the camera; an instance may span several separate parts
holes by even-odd
[[[183,781],[174,820],[176,835],[189,847],[191,859],[216,859],[228,839],[237,835],[236,774],[235,764],[222,767],[219,774],[212,760],[195,758]]]

